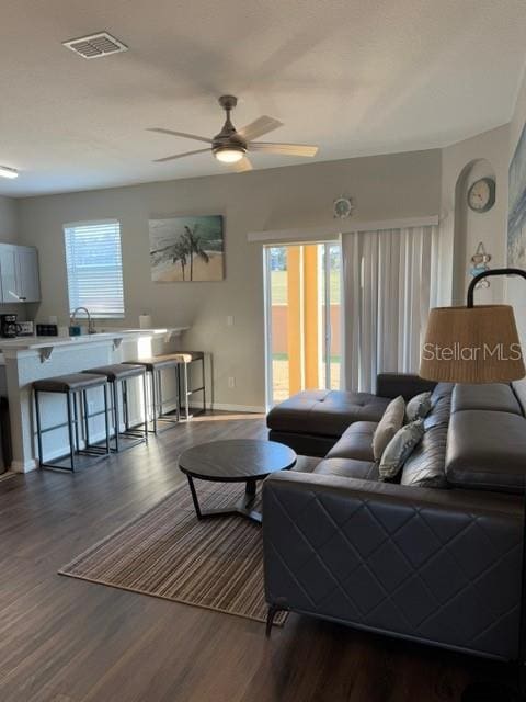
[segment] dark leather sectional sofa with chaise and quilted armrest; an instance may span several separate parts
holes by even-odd
[[[270,412],[272,439],[323,460],[263,484],[266,599],[515,660],[526,419],[510,385],[431,387],[424,439],[397,484],[378,480],[374,429],[389,398],[428,383],[387,374],[378,396],[307,392]]]

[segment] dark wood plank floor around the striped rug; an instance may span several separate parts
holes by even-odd
[[[261,417],[218,414],[73,476],[0,482],[0,701],[435,702],[507,672],[296,615],[266,639],[255,622],[57,575],[180,484],[187,446],[265,437]]]

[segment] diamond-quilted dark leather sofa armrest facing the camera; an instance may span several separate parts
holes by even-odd
[[[514,659],[522,500],[317,474],[263,484],[268,604]]]

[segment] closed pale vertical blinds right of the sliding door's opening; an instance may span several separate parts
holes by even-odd
[[[436,226],[342,235],[345,389],[375,392],[378,373],[418,372],[437,236]]]

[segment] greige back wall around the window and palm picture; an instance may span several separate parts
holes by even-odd
[[[436,215],[441,152],[356,158],[21,200],[21,242],[36,246],[39,252],[43,303],[38,316],[58,315],[61,324],[67,322],[62,224],[116,217],[122,223],[124,325],[136,327],[142,312],[152,315],[155,325],[191,325],[185,347],[214,354],[216,403],[263,407],[262,247],[248,244],[247,234],[332,226],[332,201],[342,193],[355,201],[355,220]],[[171,214],[225,215],[224,282],[151,282],[148,218]],[[233,315],[233,327],[227,327],[227,315]],[[236,377],[235,388],[228,388],[228,376]]]

